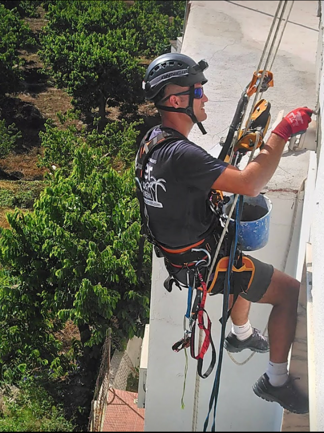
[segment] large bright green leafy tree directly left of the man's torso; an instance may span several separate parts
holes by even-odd
[[[143,335],[149,317],[149,246],[137,281],[140,232],[133,170],[118,174],[102,149],[82,144],[68,177],[55,171],[33,213],[8,215],[0,231],[0,359],[63,373],[53,332],[79,327],[84,359],[96,365],[107,329]],[[145,282],[145,284],[144,284]]]

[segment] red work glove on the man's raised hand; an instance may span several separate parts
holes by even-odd
[[[313,110],[307,107],[296,108],[284,117],[272,133],[288,141],[290,137],[306,132]]]

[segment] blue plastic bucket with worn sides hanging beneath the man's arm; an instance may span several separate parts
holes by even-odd
[[[233,199],[234,196],[231,196],[230,201],[225,205],[227,215],[233,204]],[[266,246],[269,240],[271,209],[271,201],[263,194],[259,194],[257,197],[244,196],[244,206],[238,229],[238,244],[242,251],[256,251]],[[234,224],[232,218],[230,224]]]

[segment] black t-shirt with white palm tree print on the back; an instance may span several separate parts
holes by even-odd
[[[158,126],[149,139],[160,133]],[[227,165],[184,136],[152,152],[142,187],[149,228],[160,244],[175,248],[204,239],[215,218],[211,187]]]

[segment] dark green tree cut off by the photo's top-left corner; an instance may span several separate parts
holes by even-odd
[[[18,50],[31,43],[29,27],[17,13],[0,5],[0,99],[18,91],[23,64]]]

